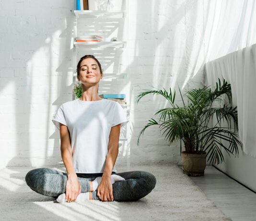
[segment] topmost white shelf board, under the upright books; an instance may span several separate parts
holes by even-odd
[[[124,11],[74,10],[76,18],[124,18]]]

